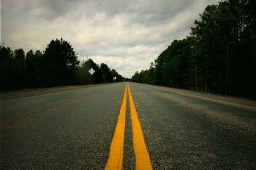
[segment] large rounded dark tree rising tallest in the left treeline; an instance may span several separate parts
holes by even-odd
[[[62,38],[52,40],[47,45],[42,63],[45,86],[70,85],[74,82],[74,71],[79,61],[72,46]]]

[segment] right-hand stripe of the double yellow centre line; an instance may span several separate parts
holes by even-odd
[[[127,85],[132,120],[133,148],[136,157],[136,169],[152,169],[147,146],[140,126],[140,120],[132,99],[129,84]]]

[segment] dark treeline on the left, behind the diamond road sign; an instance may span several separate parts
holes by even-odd
[[[90,68],[95,70],[93,76],[88,73]],[[25,54],[21,48],[13,52],[0,46],[0,78],[1,91],[124,81],[104,63],[99,66],[89,59],[79,65],[77,53],[62,38],[52,40],[44,52],[29,50]]]

